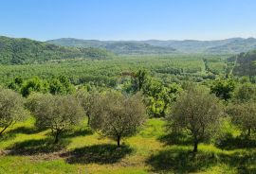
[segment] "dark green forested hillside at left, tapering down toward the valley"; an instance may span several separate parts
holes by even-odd
[[[0,37],[0,63],[25,64],[65,59],[111,59],[114,54],[99,48],[71,48],[29,39]]]

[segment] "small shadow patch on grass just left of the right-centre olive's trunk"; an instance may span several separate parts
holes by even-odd
[[[192,145],[192,138],[184,133],[171,132],[158,138],[165,145]]]

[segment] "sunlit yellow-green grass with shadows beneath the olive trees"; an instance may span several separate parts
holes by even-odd
[[[173,141],[163,119],[148,119],[136,136],[122,141],[122,148],[85,126],[64,134],[61,144],[53,146],[50,131],[35,130],[33,123],[29,118],[1,137],[0,173],[256,172],[255,147],[200,144],[194,155],[188,137]]]

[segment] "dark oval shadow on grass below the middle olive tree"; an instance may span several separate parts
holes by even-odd
[[[76,148],[68,154],[66,162],[69,164],[114,164],[119,162],[126,155],[131,154],[132,148],[122,146],[118,148],[116,145],[94,145],[84,148]]]

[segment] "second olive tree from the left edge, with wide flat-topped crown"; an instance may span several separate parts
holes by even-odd
[[[55,136],[54,143],[59,142],[64,130],[81,123],[82,107],[74,96],[37,95],[31,96],[29,103],[36,118],[36,127],[50,129]]]

